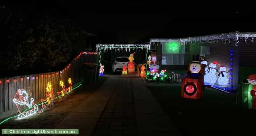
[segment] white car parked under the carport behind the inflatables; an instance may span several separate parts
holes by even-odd
[[[126,56],[116,57],[112,65],[113,72],[123,71],[123,66],[127,67],[127,63],[129,62],[128,58],[129,57],[126,57]]]

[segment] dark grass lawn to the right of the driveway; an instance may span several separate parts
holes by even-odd
[[[148,88],[182,135],[256,135],[256,110],[239,108],[236,95],[205,88],[202,100],[190,100],[181,87]]]

